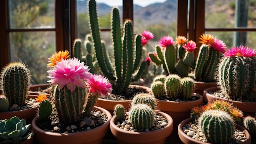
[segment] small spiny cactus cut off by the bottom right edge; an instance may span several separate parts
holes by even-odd
[[[256,120],[252,116],[246,116],[243,120],[244,126],[250,132],[252,137],[256,135]],[[255,139],[255,137],[254,137]]]

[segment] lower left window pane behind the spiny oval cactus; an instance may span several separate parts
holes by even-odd
[[[55,52],[55,32],[10,33],[11,62],[26,63],[31,70],[31,84],[47,83],[48,58]]]

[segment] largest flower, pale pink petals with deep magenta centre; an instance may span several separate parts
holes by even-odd
[[[62,59],[60,62],[56,62],[52,70],[48,70],[51,79],[47,82],[51,85],[58,84],[58,87],[62,89],[65,85],[70,91],[74,91],[76,86],[86,87],[85,79],[90,79],[91,73],[90,68],[84,65],[84,62],[80,63],[77,58],[73,59]]]

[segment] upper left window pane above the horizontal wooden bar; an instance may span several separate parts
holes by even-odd
[[[54,28],[54,0],[8,0],[9,26]]]

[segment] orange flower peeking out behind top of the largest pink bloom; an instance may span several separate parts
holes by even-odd
[[[55,54],[53,54],[52,57],[48,58],[50,63],[47,64],[47,67],[56,65],[56,62],[61,61],[61,59],[69,58],[70,55],[68,55],[68,54],[69,54],[69,51],[67,51],[67,50],[65,50],[64,52],[63,52],[63,50],[59,51],[59,52],[55,52]]]

